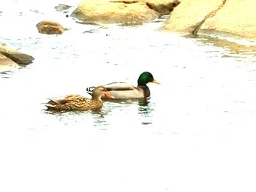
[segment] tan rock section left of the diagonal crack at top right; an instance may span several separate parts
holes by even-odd
[[[194,34],[203,21],[222,4],[222,0],[182,0],[161,29],[179,34]]]

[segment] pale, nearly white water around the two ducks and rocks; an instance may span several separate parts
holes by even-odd
[[[256,51],[218,39],[91,26],[80,1],[4,1],[0,42],[34,56],[0,74],[0,191],[256,191]],[[69,4],[67,13],[58,4]],[[68,28],[37,32],[41,20]],[[45,111],[53,96],[86,94],[151,72],[151,98],[99,112]]]

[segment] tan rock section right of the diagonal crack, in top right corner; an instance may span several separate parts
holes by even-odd
[[[255,0],[227,0],[214,17],[203,23],[198,34],[215,34],[256,42],[255,7]]]

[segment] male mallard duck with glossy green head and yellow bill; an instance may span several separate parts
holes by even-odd
[[[141,99],[150,96],[150,90],[147,86],[148,82],[159,84],[154,80],[150,72],[143,72],[138,78],[138,87],[128,84],[127,82],[112,82],[104,86],[114,99]],[[86,88],[87,93],[91,94],[95,87]],[[105,97],[102,97],[105,99]]]

